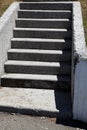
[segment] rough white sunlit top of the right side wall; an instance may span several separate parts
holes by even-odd
[[[73,44],[74,55],[78,56],[80,59],[84,59],[86,43],[80,2],[73,2]]]

